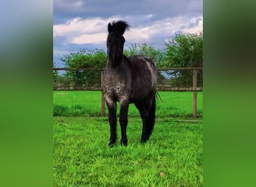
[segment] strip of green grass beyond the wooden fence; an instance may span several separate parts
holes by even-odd
[[[163,102],[156,102],[156,117],[192,117],[192,92],[159,92]],[[100,91],[54,91],[54,116],[100,116]],[[119,111],[118,111],[119,112]],[[106,114],[108,110],[106,108]],[[129,105],[129,117],[139,117]],[[203,93],[198,92],[198,117],[203,117]]]

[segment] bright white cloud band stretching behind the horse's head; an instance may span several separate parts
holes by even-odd
[[[129,16],[127,19],[150,19],[152,15],[141,16]],[[110,17],[108,19],[102,19],[100,17],[92,19],[74,18],[70,21],[53,26],[53,37],[66,37],[64,42],[66,44],[106,44],[107,37],[107,25],[112,20],[124,19],[118,16]],[[124,19],[125,20],[125,19]],[[129,21],[127,21],[129,22]],[[132,43],[147,43],[152,40],[159,39],[165,40],[167,37],[171,37],[177,31],[184,32],[197,32],[202,31],[202,16],[197,17],[167,17],[162,20],[156,20],[150,22],[147,26],[138,25],[137,27],[131,27],[130,31],[124,34],[129,42]]]

